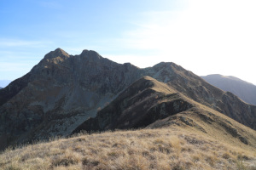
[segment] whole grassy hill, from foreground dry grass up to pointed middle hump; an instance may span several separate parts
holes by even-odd
[[[80,130],[87,132],[78,133]],[[73,133],[76,134],[71,138],[6,150],[0,153],[0,168],[256,167],[253,129],[148,76],[131,83],[95,118],[82,123]]]

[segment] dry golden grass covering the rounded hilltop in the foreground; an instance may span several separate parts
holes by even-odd
[[[256,169],[255,157],[255,150],[160,128],[80,134],[5,150],[0,169]]]

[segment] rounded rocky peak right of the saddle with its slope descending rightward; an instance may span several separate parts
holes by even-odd
[[[212,109],[230,116],[247,127],[256,129],[256,106],[248,105],[236,95],[224,92],[196,76],[191,71],[174,63],[160,63],[145,69],[146,75],[188,96],[190,99],[207,105]]]

